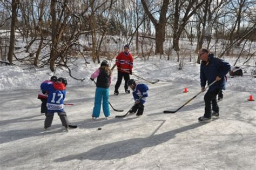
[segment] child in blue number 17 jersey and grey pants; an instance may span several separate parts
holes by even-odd
[[[58,113],[62,125],[65,126],[66,130],[69,129],[69,120],[66,117],[66,112],[64,111],[64,99],[66,96],[66,85],[68,82],[65,78],[59,77],[57,82],[45,82],[41,85],[41,90],[48,92],[47,99],[47,114],[44,121],[44,130],[51,126],[53,115],[55,112]]]

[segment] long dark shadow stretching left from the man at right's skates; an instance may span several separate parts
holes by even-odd
[[[112,160],[126,158],[137,154],[145,147],[152,147],[163,142],[169,141],[176,137],[176,134],[205,125],[204,123],[194,123],[192,125],[177,128],[175,130],[164,132],[161,134],[150,135],[146,138],[133,138],[122,141],[113,142],[111,144],[104,144],[90,149],[85,153],[68,155],[66,157],[58,158],[55,162],[64,162],[73,159],[89,159],[89,160]]]

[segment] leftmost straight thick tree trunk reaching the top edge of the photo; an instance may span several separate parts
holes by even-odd
[[[8,52],[9,63],[12,63],[12,58],[14,57],[15,25],[16,25],[17,8],[18,8],[18,0],[12,0],[12,3],[11,3],[11,35],[10,35],[10,45],[9,45],[9,52]]]

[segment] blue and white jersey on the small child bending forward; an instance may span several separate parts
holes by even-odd
[[[139,100],[140,96],[143,96],[140,99],[140,103],[144,104],[146,102],[146,98],[149,96],[147,91],[149,90],[149,87],[145,84],[137,84],[135,89],[133,90],[133,98],[135,101]]]

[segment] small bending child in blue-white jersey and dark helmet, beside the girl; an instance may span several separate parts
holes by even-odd
[[[127,82],[127,85],[133,90],[133,98],[135,100],[135,105],[132,107],[130,113],[136,113],[137,116],[143,114],[144,111],[144,103],[146,102],[146,98],[149,97],[147,91],[149,87],[146,84],[137,84],[134,79],[130,79]]]

